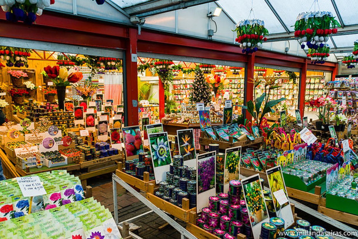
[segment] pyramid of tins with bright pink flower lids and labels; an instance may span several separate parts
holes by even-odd
[[[239,233],[252,238],[245,201],[240,200],[241,188],[239,180],[232,180],[228,193],[218,192],[209,197],[209,205],[202,209],[197,225],[219,238],[233,239]]]

